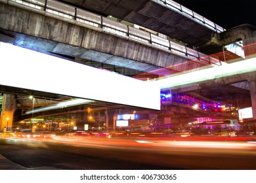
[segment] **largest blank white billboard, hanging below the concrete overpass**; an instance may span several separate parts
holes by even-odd
[[[160,110],[160,87],[0,42],[0,84]]]

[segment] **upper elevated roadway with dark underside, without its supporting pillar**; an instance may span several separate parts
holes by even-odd
[[[211,39],[212,33],[224,31],[223,27],[170,0],[62,1],[141,25],[189,46],[200,46]]]

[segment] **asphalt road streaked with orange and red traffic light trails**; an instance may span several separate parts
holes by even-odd
[[[179,139],[178,139],[179,140]],[[256,169],[255,141],[55,137],[0,139],[0,161],[19,169]],[[1,163],[0,163],[1,164]],[[0,165],[0,169],[12,169]],[[16,167],[17,169],[17,167]]]

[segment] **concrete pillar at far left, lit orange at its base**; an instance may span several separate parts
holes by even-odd
[[[14,95],[4,94],[2,112],[0,116],[0,130],[12,129],[13,114],[16,109],[16,99]]]

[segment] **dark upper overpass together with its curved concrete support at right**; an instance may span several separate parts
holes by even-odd
[[[129,3],[118,0],[62,0],[62,2],[152,29],[182,41],[186,46],[196,48],[205,54],[222,51],[223,46],[230,42],[243,40],[244,45],[255,42],[253,36],[255,27],[242,25],[226,30],[172,0],[139,0]]]

